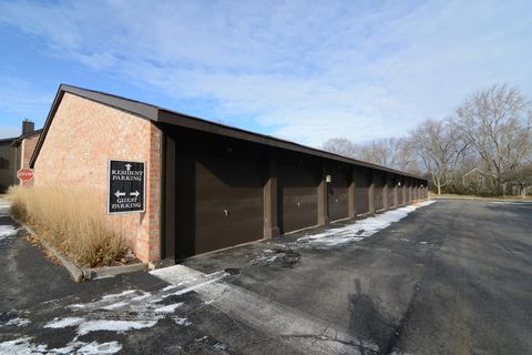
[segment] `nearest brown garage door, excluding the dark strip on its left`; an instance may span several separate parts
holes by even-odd
[[[195,254],[263,237],[263,181],[257,161],[196,155]]]

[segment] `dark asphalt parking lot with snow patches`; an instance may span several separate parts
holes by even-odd
[[[532,352],[531,203],[438,201],[372,235],[335,224],[82,284],[0,224],[2,354]]]

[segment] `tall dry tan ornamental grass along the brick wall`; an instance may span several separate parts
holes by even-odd
[[[125,253],[123,239],[104,221],[89,189],[21,187],[8,191],[11,213],[80,266],[111,265]]]

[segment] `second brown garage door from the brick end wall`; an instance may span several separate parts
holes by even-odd
[[[278,166],[283,233],[318,224],[318,170],[313,165]]]

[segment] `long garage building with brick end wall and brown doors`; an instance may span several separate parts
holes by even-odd
[[[145,162],[145,210],[109,214],[143,261],[182,258],[427,197],[427,180],[152,104],[62,84],[35,186],[105,197],[110,160]],[[105,214],[105,205],[99,213]]]

